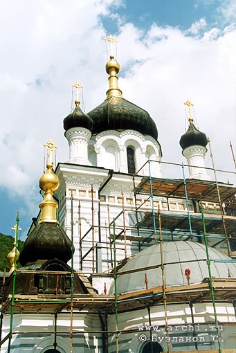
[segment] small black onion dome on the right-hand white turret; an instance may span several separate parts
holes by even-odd
[[[200,145],[206,147],[208,144],[208,138],[204,132],[200,132],[197,127],[194,126],[193,123],[190,123],[188,130],[181,136],[179,144],[185,150],[185,148]]]

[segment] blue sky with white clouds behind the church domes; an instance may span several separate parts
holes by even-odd
[[[185,163],[189,99],[215,168],[235,171],[235,19],[234,0],[2,0],[0,233],[12,234],[19,210],[24,239],[37,217],[44,143],[57,144],[57,162],[69,159],[71,84],[82,83],[86,112],[105,99],[107,35],[118,40],[123,97],[155,120],[163,161]],[[236,183],[233,173],[218,178]]]

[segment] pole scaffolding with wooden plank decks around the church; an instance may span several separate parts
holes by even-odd
[[[150,163],[154,161],[147,161],[149,164],[149,176],[140,177],[140,170],[133,176],[134,183],[134,209],[125,207],[124,194],[121,190],[121,210],[114,219],[111,220],[111,214],[109,210],[109,204],[107,204],[107,226],[100,224],[100,216],[98,223],[96,223],[94,215],[94,199],[93,199],[93,185],[91,186],[91,215],[92,215],[92,226],[89,230],[82,235],[81,233],[81,217],[82,210],[79,202],[78,215],[79,215],[79,237],[80,237],[80,270],[83,271],[84,263],[92,263],[91,272],[78,272],[73,268],[73,256],[71,262],[71,271],[51,271],[50,274],[54,276],[70,275],[71,276],[71,293],[70,296],[66,294],[58,294],[51,296],[44,295],[21,295],[15,293],[15,281],[17,280],[17,273],[28,273],[33,275],[39,275],[40,273],[49,273],[48,271],[33,271],[26,269],[15,270],[3,284],[3,294],[6,285],[12,281],[12,295],[2,300],[1,307],[1,334],[0,334],[0,347],[3,343],[8,341],[8,350],[11,352],[12,337],[19,332],[15,332],[13,327],[14,315],[21,314],[52,314],[55,318],[54,329],[48,331],[48,334],[54,335],[54,348],[57,347],[57,336],[58,334],[69,334],[69,347],[70,352],[73,352],[73,338],[77,336],[83,336],[87,334],[98,334],[102,336],[102,353],[109,352],[108,350],[108,335],[114,335],[116,340],[116,353],[119,352],[119,338],[121,334],[130,334],[131,332],[137,333],[139,329],[119,329],[119,314],[139,311],[140,309],[147,309],[149,317],[149,326],[152,326],[151,309],[158,306],[163,307],[165,316],[165,325],[163,328],[167,334],[167,338],[170,336],[168,327],[168,314],[167,308],[176,303],[182,303],[188,305],[191,311],[192,325],[194,327],[192,336],[197,338],[197,323],[194,322],[193,307],[197,302],[210,302],[214,309],[214,321],[210,323],[204,323],[208,327],[209,324],[214,324],[216,328],[217,336],[217,350],[211,350],[211,352],[236,352],[236,350],[223,350],[221,347],[221,332],[220,325],[228,325],[229,323],[219,323],[217,318],[217,311],[215,303],[227,302],[233,305],[236,317],[236,278],[212,278],[210,264],[212,261],[219,262],[217,259],[210,259],[208,255],[208,242],[212,242],[212,246],[219,246],[223,242],[226,243],[226,251],[231,259],[228,262],[236,262],[235,260],[235,249],[231,251],[230,242],[234,241],[236,232],[236,188],[233,185],[226,185],[225,183],[219,183],[216,179],[215,167],[211,170],[215,173],[215,181],[197,181],[191,179],[185,179],[184,168],[188,165],[168,163],[169,165],[178,165],[183,172],[183,179],[166,179],[152,177]],[[165,162],[163,162],[165,163]],[[146,163],[145,163],[146,165]],[[142,168],[145,168],[143,165]],[[142,169],[141,168],[141,169]],[[210,168],[208,168],[210,169]],[[223,171],[219,171],[223,172]],[[112,179],[112,174],[107,179],[105,185]],[[138,183],[136,182],[138,179]],[[100,188],[102,192],[103,188]],[[140,202],[138,197],[141,196],[144,199]],[[174,211],[170,208],[170,203],[173,200],[184,200],[185,208],[182,211]],[[190,201],[192,202],[192,210],[190,210]],[[211,202],[217,205],[217,213],[209,213],[204,211],[206,203]],[[167,205],[167,209],[163,208],[163,203]],[[147,206],[148,205],[148,206]],[[71,195],[71,210],[73,210],[73,195]],[[134,215],[134,224],[127,224],[126,213],[130,212]],[[18,217],[18,216],[17,216]],[[17,219],[19,224],[19,219]],[[71,253],[73,254],[73,212],[71,212]],[[98,232],[96,232],[98,230]],[[102,231],[109,232],[109,239],[107,241],[102,240]],[[106,272],[98,272],[98,252],[96,251],[96,234],[98,234],[99,247],[109,248],[111,254],[111,270]],[[210,235],[209,235],[210,234]],[[88,235],[91,235],[91,239],[87,240]],[[166,240],[174,240],[174,238],[180,238],[192,242],[203,242],[206,247],[206,257],[201,261],[206,262],[208,265],[208,278],[203,278],[200,284],[181,285],[176,287],[168,287],[165,282],[165,266],[167,263],[164,262],[163,257],[163,242]],[[165,239],[164,239],[165,238]],[[89,250],[83,253],[84,243],[89,243],[91,246]],[[141,267],[138,269],[132,269],[131,272],[148,271],[149,269],[160,268],[162,273],[162,283],[158,287],[148,288],[146,282],[146,289],[141,291],[135,291],[133,293],[119,294],[117,292],[117,278],[128,274],[129,271],[122,271],[122,266],[127,262],[127,244],[136,246],[137,252],[141,251],[143,247],[149,244],[158,244],[161,251],[161,262],[155,266]],[[117,250],[124,252],[122,262],[117,259]],[[196,262],[200,260],[192,260]],[[222,262],[227,262],[222,260]],[[176,262],[177,263],[183,263]],[[186,264],[190,261],[186,261]],[[174,264],[174,262],[171,262]],[[87,294],[74,293],[73,283],[74,275],[78,274],[80,280],[87,286]],[[103,275],[103,276],[114,276],[114,295],[107,294],[105,289],[104,294],[97,294],[89,287],[87,278],[84,275]],[[188,273],[186,277],[188,278]],[[188,278],[189,280],[189,278]],[[70,329],[68,331],[62,331],[59,329],[57,322],[60,314],[68,313],[70,317]],[[89,329],[73,329],[73,317],[75,314],[90,313],[98,316],[101,324],[100,330],[89,330]],[[10,316],[10,330],[9,334],[2,337],[2,327],[4,316]],[[115,317],[116,327],[114,330],[109,330],[107,327],[107,318],[109,316]],[[181,325],[181,324],[180,324]],[[183,324],[182,324],[183,325]],[[236,325],[236,323],[230,323],[230,325]],[[235,326],[236,329],[236,326]],[[41,332],[21,332],[24,336],[30,336],[35,334],[41,334]],[[150,332],[151,334],[151,332]],[[207,352],[199,350],[197,341],[194,341],[194,348],[192,352]],[[151,352],[154,353],[153,347],[151,346]],[[170,353],[171,346],[170,341],[167,340],[167,352]]]

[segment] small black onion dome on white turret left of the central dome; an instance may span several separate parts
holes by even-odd
[[[75,100],[75,109],[69,114],[69,116],[64,118],[63,126],[66,131],[72,127],[84,127],[85,129],[92,131],[93,120],[80,109],[80,100]]]

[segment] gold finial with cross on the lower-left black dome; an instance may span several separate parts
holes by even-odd
[[[57,222],[56,210],[58,206],[53,200],[53,191],[57,190],[60,185],[57,175],[53,172],[53,151],[57,146],[49,140],[44,144],[44,147],[47,148],[47,171],[39,179],[39,188],[45,192],[44,201],[39,205],[41,210],[39,223],[43,221]]]

